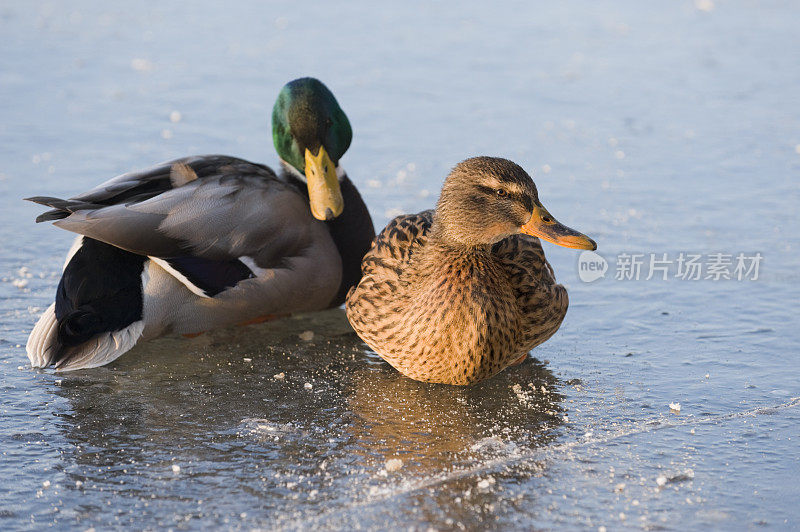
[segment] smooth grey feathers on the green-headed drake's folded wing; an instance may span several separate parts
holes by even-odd
[[[267,267],[308,242],[309,223],[304,198],[288,186],[220,178],[139,203],[77,211],[55,225],[141,255],[249,256]]]

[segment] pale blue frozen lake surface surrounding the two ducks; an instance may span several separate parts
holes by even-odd
[[[800,527],[800,6],[400,5],[0,5],[0,529]],[[195,153],[275,166],[303,75],[350,117],[378,228],[505,156],[605,278],[546,244],[561,330],[470,388],[401,377],[341,310],[30,369],[72,237],[20,199]],[[763,260],[688,280],[681,253]]]

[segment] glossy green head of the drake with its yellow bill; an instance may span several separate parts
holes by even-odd
[[[311,213],[320,220],[344,209],[336,167],[352,138],[350,121],[321,81],[300,78],[281,89],[272,108],[272,140],[281,160],[306,177]]]

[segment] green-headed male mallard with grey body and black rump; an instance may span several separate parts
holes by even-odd
[[[140,339],[193,334],[344,302],[375,236],[339,160],[352,137],[316,79],[281,90],[272,136],[284,167],[186,157],[116,177],[36,221],[82,235],[55,303],[28,339],[34,367],[91,368]]]

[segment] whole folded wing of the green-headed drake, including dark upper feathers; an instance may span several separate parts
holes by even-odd
[[[37,221],[163,259],[204,296],[302,255],[319,238],[297,188],[266,166],[226,156],[177,159],[69,200],[29,199],[53,207]]]

